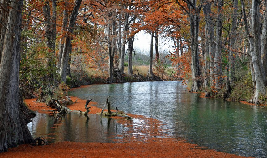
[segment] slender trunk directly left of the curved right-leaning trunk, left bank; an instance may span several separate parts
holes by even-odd
[[[64,4],[64,11],[63,11],[63,22],[62,22],[62,29],[61,29],[61,34],[65,35],[66,31],[67,31],[67,24],[68,24],[68,2],[65,0],[65,4]],[[65,36],[62,36],[62,38],[60,38],[59,40],[59,50],[58,50],[58,55],[57,55],[57,73],[59,73],[60,70],[60,66],[61,66],[61,59],[62,59],[62,52],[63,52],[63,48],[64,48],[64,40],[65,40]]]

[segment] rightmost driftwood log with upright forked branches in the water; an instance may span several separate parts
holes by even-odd
[[[110,96],[108,96],[109,98]],[[116,114],[114,112],[111,112],[110,110],[110,102],[108,102],[108,98],[107,98],[107,102],[105,103],[101,113],[96,113],[96,114],[100,114],[100,118],[102,118],[102,115],[104,114],[104,116],[119,116],[119,117],[124,117],[124,118],[127,118],[127,119],[132,119],[130,116],[124,114],[122,111],[120,111],[118,113],[118,107],[116,107]],[[105,108],[108,108],[108,111],[104,111]]]

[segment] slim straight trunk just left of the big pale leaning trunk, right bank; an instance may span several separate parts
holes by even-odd
[[[235,57],[234,54],[236,54],[233,50],[235,49],[235,39],[236,39],[236,25],[237,25],[237,7],[238,7],[238,1],[233,1],[233,21],[232,21],[232,27],[231,27],[231,34],[230,34],[230,50],[229,50],[229,80],[230,85],[233,87],[233,81],[235,79]]]

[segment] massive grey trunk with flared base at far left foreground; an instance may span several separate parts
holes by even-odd
[[[23,0],[10,1],[0,64],[0,152],[33,143],[19,103],[19,50]]]

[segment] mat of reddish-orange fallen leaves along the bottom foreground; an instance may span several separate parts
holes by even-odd
[[[202,150],[195,144],[171,138],[150,139],[130,143],[58,142],[45,146],[20,145],[0,157],[241,157],[214,150]]]

